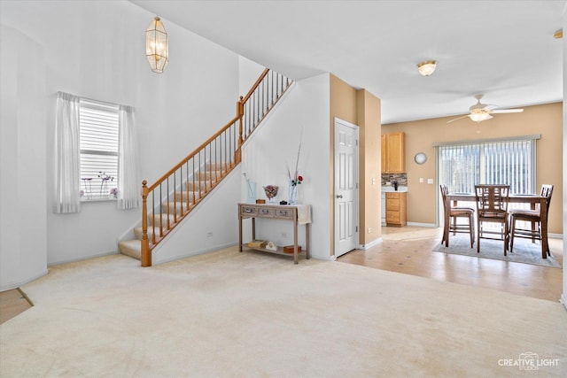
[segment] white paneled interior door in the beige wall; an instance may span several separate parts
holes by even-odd
[[[358,245],[358,127],[335,119],[335,258]]]

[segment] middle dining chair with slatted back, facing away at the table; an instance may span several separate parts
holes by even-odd
[[[504,241],[504,256],[508,252],[509,243],[509,185],[485,184],[475,185],[477,200],[477,253],[480,252],[480,239]],[[497,223],[500,228],[490,228]],[[499,235],[499,237],[495,237]]]

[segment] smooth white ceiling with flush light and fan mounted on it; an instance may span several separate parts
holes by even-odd
[[[567,0],[131,1],[291,79],[333,73],[368,89],[384,124],[463,114],[476,94],[501,107],[563,99],[553,34]],[[423,77],[426,59],[439,64]]]

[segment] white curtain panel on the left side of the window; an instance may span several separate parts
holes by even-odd
[[[80,212],[79,97],[62,92],[57,97],[55,154],[53,212]]]

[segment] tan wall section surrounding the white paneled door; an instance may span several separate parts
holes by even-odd
[[[380,228],[380,99],[365,89],[353,89],[345,81],[330,75],[330,188],[334,188],[335,117],[359,127],[359,243],[372,243],[382,235]],[[330,237],[331,250],[333,250],[334,193],[330,201]],[[333,254],[334,250],[331,251],[331,255]]]

